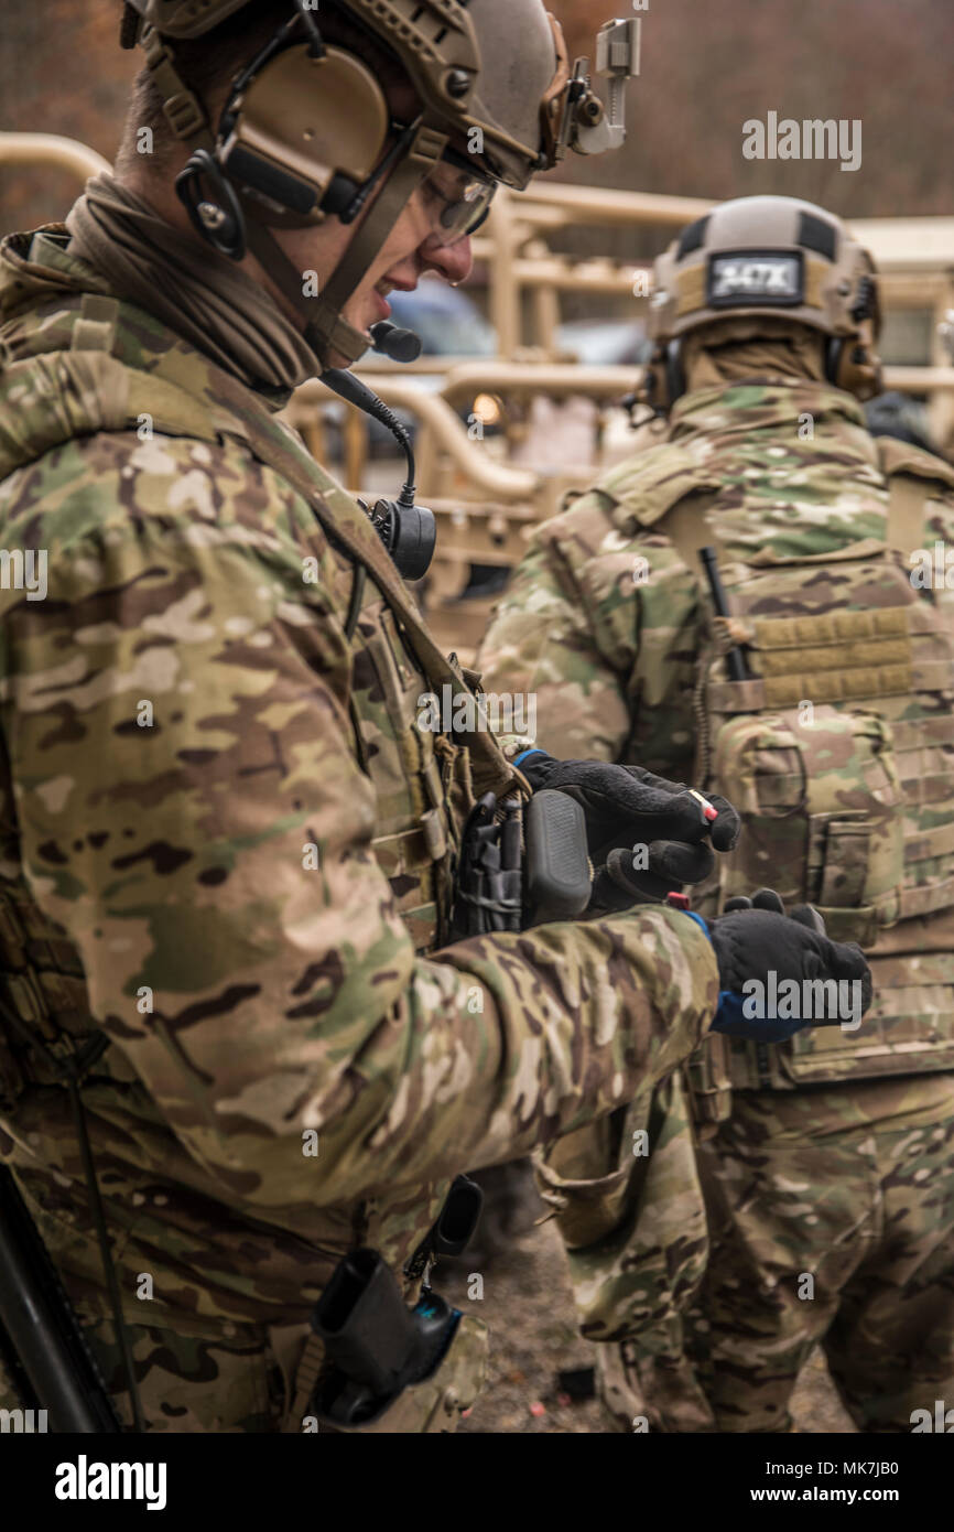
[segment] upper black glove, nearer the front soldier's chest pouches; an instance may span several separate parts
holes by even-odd
[[[640,766],[557,761],[544,751],[518,757],[518,764],[534,791],[556,787],[583,809],[594,870],[588,915],[665,899],[684,882],[701,882],[714,867],[706,838],[729,852],[740,836],[741,820],[724,798],[703,798]]]

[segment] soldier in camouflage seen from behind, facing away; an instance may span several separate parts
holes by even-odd
[[[689,225],[649,323],[662,434],[536,532],[484,685],[536,691],[544,748],[729,794],[746,829],[697,908],[760,881],[813,901],[877,999],[864,1030],[772,1052],[707,1039],[695,1158],[657,1097],[648,1166],[608,1118],[542,1184],[620,1425],[792,1429],[818,1342],[859,1429],[907,1431],[954,1394],[954,591],[925,574],[954,472],[865,430],[876,274],[821,208],[746,198]]]

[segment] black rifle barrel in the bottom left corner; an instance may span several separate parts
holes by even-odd
[[[121,1431],[31,1212],[0,1166],[0,1325],[54,1431]]]

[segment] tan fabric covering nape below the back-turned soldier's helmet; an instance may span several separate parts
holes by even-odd
[[[743,378],[812,378],[824,383],[824,342],[804,325],[778,319],[726,319],[683,342],[688,392]]]

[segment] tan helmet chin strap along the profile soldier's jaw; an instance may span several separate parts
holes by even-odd
[[[341,319],[341,309],[368,276],[410,196],[439,161],[446,146],[446,135],[435,133],[430,127],[417,130],[407,153],[371,202],[323,291],[314,297],[305,293],[302,271],[285,254],[271,230],[256,219],[248,221],[248,247],[305,320],[305,339],[323,371],[331,366],[332,352],[345,357],[346,366],[351,366],[368,349],[368,334]]]

